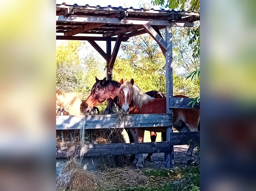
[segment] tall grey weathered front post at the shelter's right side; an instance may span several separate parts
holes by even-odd
[[[165,54],[165,67],[166,67],[166,113],[173,113],[173,110],[169,108],[169,96],[173,96],[173,78],[172,78],[172,31],[171,24],[165,28],[165,42],[167,44],[167,51]],[[167,128],[166,141],[171,141],[171,133],[173,132],[173,126]],[[174,151],[173,145],[171,146],[171,152],[166,153],[166,167],[173,168],[174,166]]]

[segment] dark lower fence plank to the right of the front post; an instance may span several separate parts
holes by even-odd
[[[171,145],[200,143],[200,132],[171,133]]]

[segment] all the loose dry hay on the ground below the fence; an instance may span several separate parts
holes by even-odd
[[[149,179],[139,169],[131,167],[108,168],[98,171],[87,171],[78,159],[72,158],[62,169],[56,179],[56,191],[119,190],[148,183]]]

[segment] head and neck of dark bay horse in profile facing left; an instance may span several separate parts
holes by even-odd
[[[86,108],[95,107],[100,103],[104,102],[107,98],[112,98],[113,89],[117,89],[120,87],[120,84],[115,81],[106,80],[99,80],[95,77],[96,83],[93,85],[91,90],[91,94],[86,100]]]

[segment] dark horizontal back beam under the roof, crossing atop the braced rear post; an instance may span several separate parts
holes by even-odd
[[[122,38],[122,41],[127,41],[129,38]],[[79,41],[116,41],[116,37],[86,37],[86,36],[58,36],[56,40],[79,40]]]

